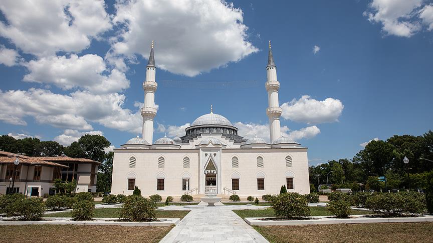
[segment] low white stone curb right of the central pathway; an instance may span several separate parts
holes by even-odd
[[[359,215],[363,216],[363,215]],[[330,218],[329,216],[317,216],[318,219],[309,220],[259,220],[263,217],[246,217],[244,220],[250,225],[304,225],[304,224],[336,224],[336,223],[383,223],[383,222],[433,222],[433,216],[419,217],[357,217],[354,218]]]

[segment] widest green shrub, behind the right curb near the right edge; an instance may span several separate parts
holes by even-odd
[[[403,213],[417,215],[425,208],[425,197],[414,191],[373,193],[367,198],[365,208],[386,217],[400,216]]]

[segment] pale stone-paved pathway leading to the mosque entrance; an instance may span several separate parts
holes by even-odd
[[[231,206],[191,208],[159,242],[269,242],[232,209]]]

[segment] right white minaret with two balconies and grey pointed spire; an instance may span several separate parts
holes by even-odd
[[[266,66],[266,74],[268,81],[266,82],[266,90],[268,91],[269,107],[266,109],[266,114],[269,117],[269,131],[271,133],[271,143],[280,137],[280,116],[281,108],[278,103],[278,89],[280,89],[280,82],[277,80],[277,66],[272,56],[271,40],[269,40],[269,55],[268,65]]]

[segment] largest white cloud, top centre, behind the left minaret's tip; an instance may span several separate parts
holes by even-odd
[[[106,58],[125,68],[122,57],[148,58],[155,40],[159,68],[194,76],[257,52],[248,39],[243,12],[219,0],[117,1],[113,22],[125,26]]]

